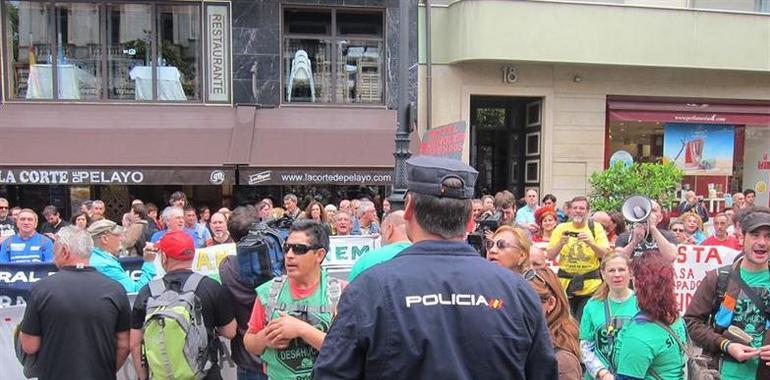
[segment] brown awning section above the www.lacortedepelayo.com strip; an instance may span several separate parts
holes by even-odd
[[[392,168],[396,117],[384,108],[261,109],[249,165]]]

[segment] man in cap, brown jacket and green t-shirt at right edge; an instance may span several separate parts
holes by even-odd
[[[744,256],[706,273],[684,319],[721,379],[769,379],[770,209],[747,213],[741,227]]]

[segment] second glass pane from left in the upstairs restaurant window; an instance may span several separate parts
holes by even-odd
[[[99,6],[56,4],[59,99],[96,100],[102,89]]]

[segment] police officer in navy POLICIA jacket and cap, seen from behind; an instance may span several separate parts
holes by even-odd
[[[315,379],[557,379],[540,299],[466,242],[478,173],[457,160],[407,161],[414,242],[351,282]]]

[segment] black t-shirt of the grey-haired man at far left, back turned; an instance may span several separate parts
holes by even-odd
[[[120,284],[92,267],[65,267],[32,286],[21,331],[41,337],[41,380],[115,379],[115,334],[129,321]]]

